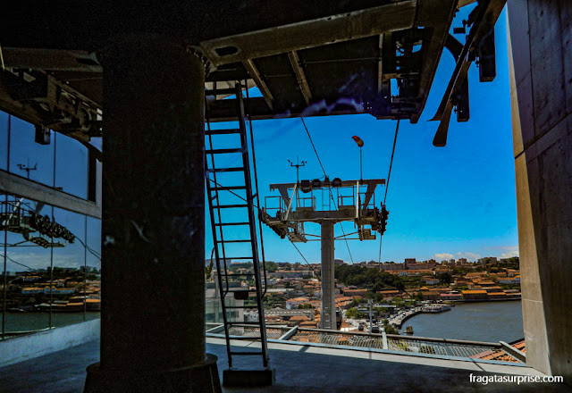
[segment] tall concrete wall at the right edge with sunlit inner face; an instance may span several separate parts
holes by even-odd
[[[572,3],[509,0],[526,363],[572,380]]]

